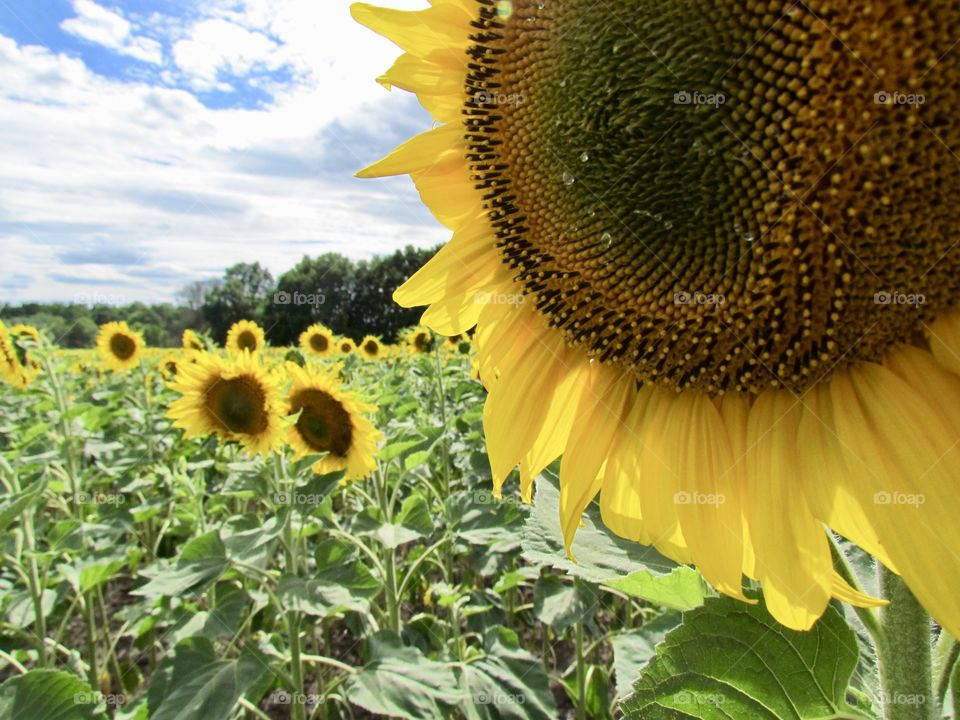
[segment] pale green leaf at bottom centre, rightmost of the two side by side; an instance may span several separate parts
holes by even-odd
[[[544,720],[559,717],[543,663],[520,647],[508,628],[491,630],[486,653],[463,667],[460,708],[470,720]]]

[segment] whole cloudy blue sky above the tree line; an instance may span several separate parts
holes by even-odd
[[[375,82],[400,51],[349,4],[0,0],[0,303],[446,240],[408,178],[353,177],[430,119]]]

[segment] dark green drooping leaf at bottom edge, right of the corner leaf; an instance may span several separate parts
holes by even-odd
[[[150,720],[227,720],[267,670],[264,658],[249,648],[236,660],[218,660],[206,638],[182,640],[150,683]]]

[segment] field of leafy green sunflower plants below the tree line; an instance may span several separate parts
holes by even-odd
[[[494,498],[469,343],[434,345],[306,361],[376,405],[349,481],[185,438],[190,351],[117,372],[30,347],[36,377],[0,391],[0,718],[872,716],[839,606],[781,628],[595,507],[573,562],[556,468],[532,505],[515,479]]]

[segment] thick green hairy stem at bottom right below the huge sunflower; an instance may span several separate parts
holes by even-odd
[[[930,616],[899,575],[878,563],[881,610],[877,645],[884,720],[932,720],[936,707],[931,673]]]

